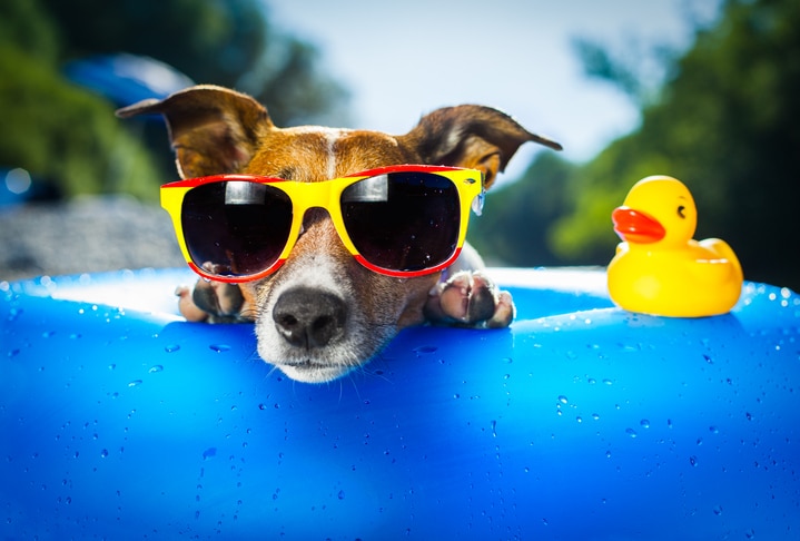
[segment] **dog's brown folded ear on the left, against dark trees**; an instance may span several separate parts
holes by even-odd
[[[256,100],[210,85],[117,111],[120,118],[142,114],[164,115],[181,178],[240,171],[256,151],[260,135],[274,128],[267,110]]]

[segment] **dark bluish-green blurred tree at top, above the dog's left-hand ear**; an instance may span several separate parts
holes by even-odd
[[[41,1],[60,23],[66,59],[152,57],[197,82],[253,95],[278,125],[325,117],[347,98],[319,68],[318,50],[278,31],[257,0]]]

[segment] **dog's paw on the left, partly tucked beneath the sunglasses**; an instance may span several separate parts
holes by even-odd
[[[237,323],[253,321],[247,315],[247,303],[236,284],[199,279],[194,289],[179,286],[180,314],[190,322]]]

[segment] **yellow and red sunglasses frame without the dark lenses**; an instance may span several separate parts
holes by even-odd
[[[377,177],[392,173],[435,174],[437,176],[447,178],[456,187],[458,191],[458,205],[461,213],[458,240],[456,243],[455,250],[445,262],[431,268],[424,268],[418,270],[394,270],[389,268],[383,268],[366,260],[358,253],[358,249],[350,240],[347,228],[345,227],[344,217],[342,216],[342,193],[345,188],[352,186],[355,183],[358,183],[366,178]],[[184,226],[181,223],[181,209],[186,194],[198,186],[230,180],[269,185],[286,194],[292,200],[292,226],[289,229],[289,236],[286,240],[286,246],[284,247],[283,252],[280,253],[280,256],[278,256],[275,263],[273,263],[268,268],[259,270],[258,273],[236,276],[216,275],[209,273],[192,260],[191,254],[189,253],[189,248],[186,244],[186,237],[184,236]],[[178,245],[180,246],[180,252],[184,255],[186,263],[188,263],[189,267],[195,273],[210,281],[237,284],[257,281],[276,272],[286,262],[289,254],[292,253],[292,249],[295,247],[295,244],[297,243],[297,239],[300,235],[305,214],[312,208],[324,208],[328,212],[330,219],[333,220],[334,227],[336,228],[336,232],[342,239],[342,243],[359,264],[375,273],[399,278],[409,278],[439,272],[451,266],[455,262],[455,259],[461,254],[464,242],[466,239],[466,229],[470,222],[470,210],[473,209],[475,214],[481,214],[481,210],[483,208],[483,174],[476,169],[465,169],[461,167],[445,166],[399,165],[382,167],[378,169],[371,169],[367,171],[348,175],[346,177],[316,183],[303,183],[296,180],[285,180],[275,177],[263,177],[253,175],[214,175],[208,177],[190,178],[177,183],[165,184],[164,186],[161,186],[161,207],[164,207],[164,209],[169,213],[169,216],[172,219],[172,226],[175,227],[175,233],[178,238]],[[409,212],[413,212],[413,209],[409,209]]]

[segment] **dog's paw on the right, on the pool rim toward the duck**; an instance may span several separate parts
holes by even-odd
[[[462,270],[431,291],[425,317],[434,323],[474,327],[507,327],[514,318],[514,302],[508,292],[483,273]]]

